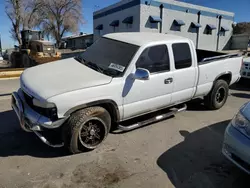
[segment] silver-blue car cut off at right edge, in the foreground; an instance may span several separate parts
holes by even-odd
[[[244,104],[226,128],[222,153],[250,174],[250,102]]]

